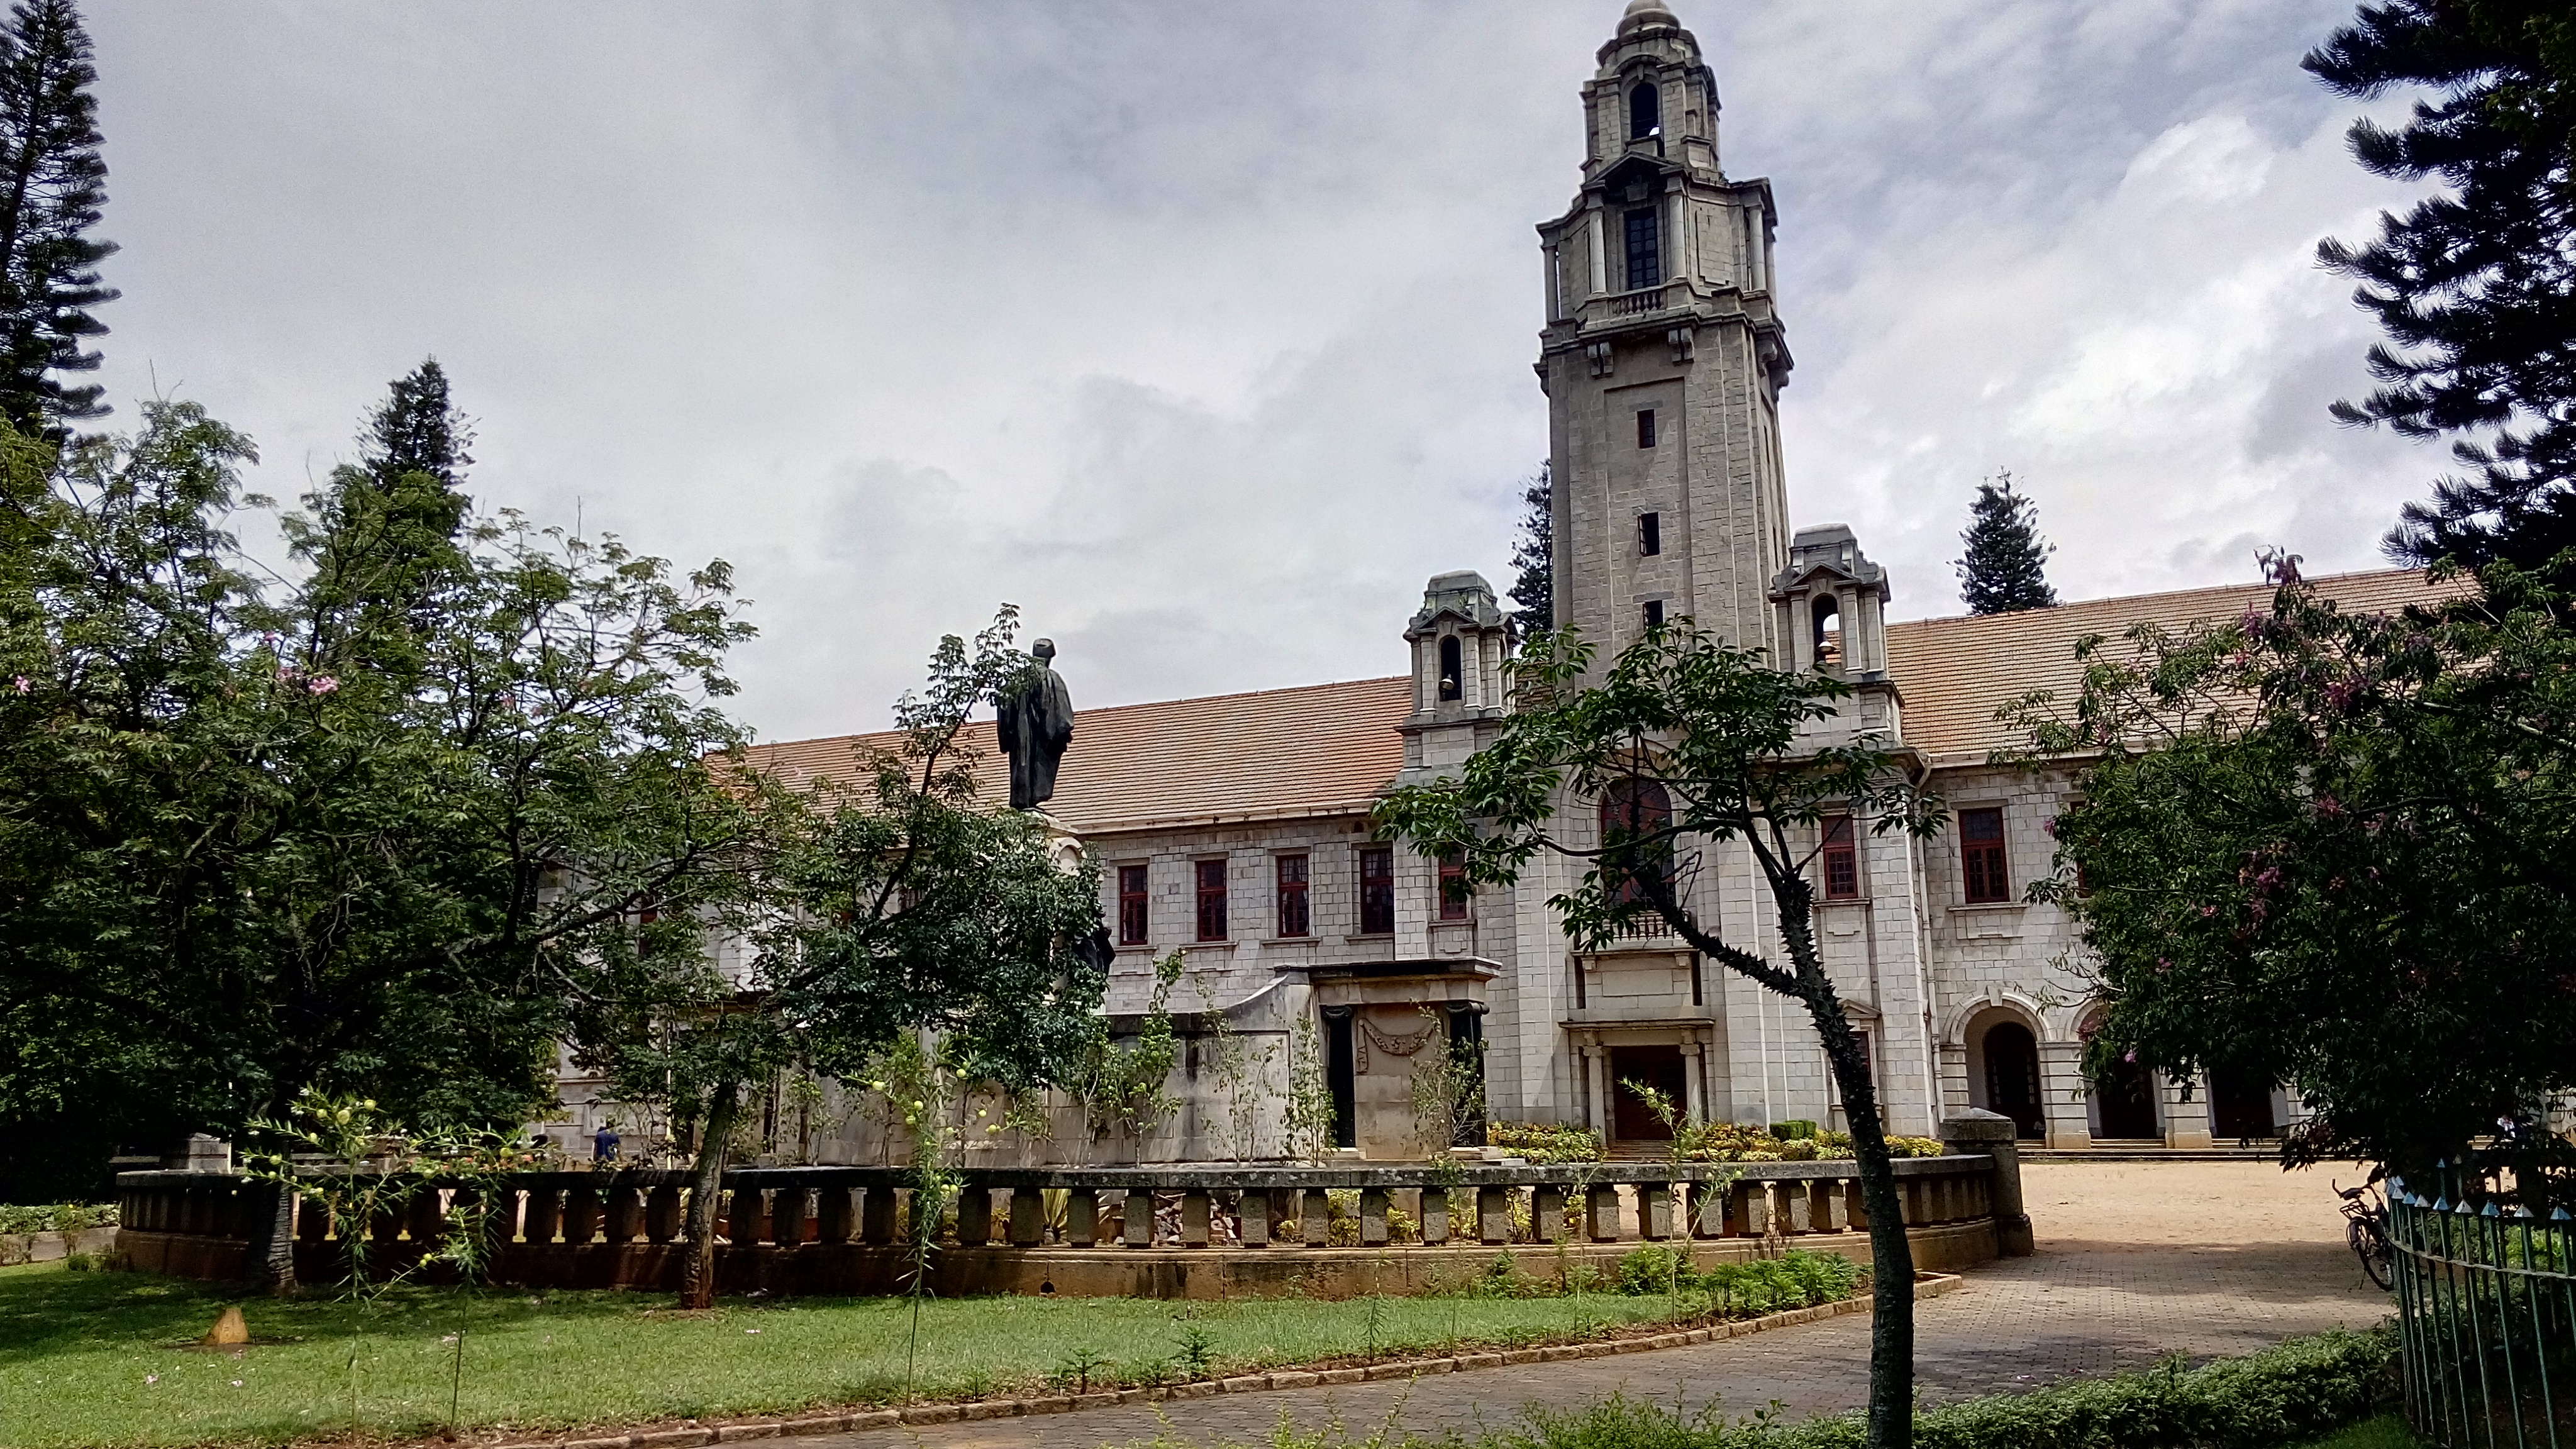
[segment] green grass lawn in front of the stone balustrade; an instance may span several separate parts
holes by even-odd
[[[227,1302],[255,1338],[188,1351]],[[335,1431],[425,1434],[448,1421],[464,1328],[459,1423],[569,1428],[644,1418],[726,1418],[904,1395],[907,1299],[726,1299],[672,1315],[670,1294],[459,1294],[397,1289],[374,1307],[314,1294],[240,1297],[144,1274],[0,1269],[0,1444],[281,1444]],[[1036,1387],[1077,1354],[1146,1382],[1182,1356],[1190,1325],[1218,1372],[1412,1348],[1571,1336],[1651,1320],[1662,1297],[1146,1302],[1074,1297],[930,1299],[920,1315],[922,1397]],[[350,1354],[355,1351],[355,1374]],[[1095,1369],[1095,1387],[1097,1387]]]

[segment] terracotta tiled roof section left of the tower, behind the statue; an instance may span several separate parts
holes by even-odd
[[[1095,835],[1368,810],[1404,768],[1396,724],[1409,709],[1404,676],[1077,709],[1046,812]],[[860,748],[896,743],[896,735],[786,740],[755,745],[752,763],[788,784],[855,779]],[[992,724],[974,724],[969,745],[987,755],[984,792],[999,799],[1010,766],[994,755]]]

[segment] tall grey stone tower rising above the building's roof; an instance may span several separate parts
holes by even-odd
[[[1597,59],[1582,191],[1538,227],[1556,621],[1602,657],[1685,616],[1772,647],[1790,356],[1770,183],[1718,168],[1716,72],[1662,0],[1631,0]]]

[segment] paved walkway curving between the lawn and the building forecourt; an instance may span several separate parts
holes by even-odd
[[[2164,1354],[2244,1354],[2321,1328],[2362,1328],[2388,1299],[2344,1250],[2321,1173],[2262,1163],[2032,1163],[2030,1258],[1968,1274],[1917,1305],[1917,1374],[1929,1403],[2148,1366]],[[1280,1413],[1368,1431],[1386,1418],[1437,1434],[1504,1423],[1525,1403],[1613,1392],[1793,1415],[1868,1400],[1870,1320],[1834,1318],[1692,1348],[1476,1369],[1432,1379],[1218,1395],[1036,1418],[778,1439],[796,1449],[1097,1449],[1154,1436],[1267,1444]]]

